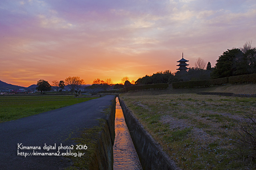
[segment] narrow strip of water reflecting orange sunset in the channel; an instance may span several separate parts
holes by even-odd
[[[116,98],[115,132],[114,170],[142,170],[118,98]]]

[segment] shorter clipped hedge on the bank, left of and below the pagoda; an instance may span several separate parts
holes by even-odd
[[[136,90],[148,90],[148,89],[165,89],[168,88],[168,83],[160,83],[160,84],[147,84],[142,86],[130,86],[123,88],[121,92],[128,92],[128,91],[136,91]]]

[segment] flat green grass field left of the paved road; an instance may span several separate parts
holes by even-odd
[[[0,123],[70,106],[91,99],[88,96],[0,96]]]

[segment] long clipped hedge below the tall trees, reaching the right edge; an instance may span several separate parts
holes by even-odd
[[[210,87],[210,86],[221,86],[221,85],[228,84],[228,83],[230,83],[230,84],[245,84],[245,83],[256,84],[256,74],[246,74],[246,75],[240,75],[240,76],[217,78],[217,79],[213,79],[213,80],[173,82],[172,88]]]

